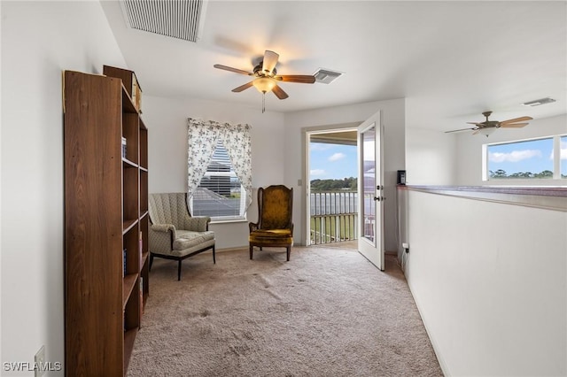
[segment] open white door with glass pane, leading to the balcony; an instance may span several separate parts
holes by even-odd
[[[384,169],[380,112],[358,127],[358,150],[358,250],[372,264],[384,270]]]

